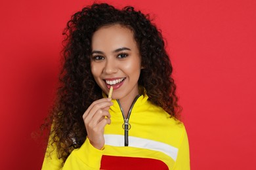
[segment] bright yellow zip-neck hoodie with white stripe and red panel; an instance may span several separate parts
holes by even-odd
[[[184,125],[161,107],[139,95],[124,119],[118,100],[112,100],[111,124],[104,129],[105,145],[94,148],[89,139],[72,151],[62,167],[49,145],[43,170],[70,169],[190,169],[188,137]],[[126,120],[126,121],[125,121]]]

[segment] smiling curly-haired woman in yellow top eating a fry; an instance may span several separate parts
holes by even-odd
[[[64,34],[42,169],[190,169],[171,62],[149,17],[94,4]]]

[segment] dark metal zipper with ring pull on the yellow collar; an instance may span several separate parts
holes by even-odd
[[[129,131],[129,129],[131,129],[131,124],[129,124],[129,118],[131,116],[131,110],[133,110],[133,106],[135,105],[135,103],[136,103],[137,99],[139,99],[139,97],[140,97],[140,94],[135,97],[133,103],[131,104],[129,112],[127,114],[127,118],[125,118],[125,114],[123,113],[123,109],[121,107],[121,104],[120,104],[119,100],[118,99],[116,100],[118,105],[119,105],[119,107],[120,107],[120,110],[121,110],[121,112],[123,114],[123,125],[122,125],[122,127],[125,130],[125,146],[128,146],[128,144],[129,144],[129,141],[128,141],[128,131]]]

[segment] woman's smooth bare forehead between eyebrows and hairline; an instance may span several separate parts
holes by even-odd
[[[93,50],[115,50],[121,47],[138,48],[131,29],[115,24],[100,27],[92,37]]]

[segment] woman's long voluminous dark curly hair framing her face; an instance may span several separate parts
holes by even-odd
[[[148,100],[162,107],[177,119],[181,107],[177,105],[175,83],[171,77],[171,61],[165,51],[165,42],[150,16],[133,7],[115,9],[106,3],[93,4],[76,12],[68,22],[63,35],[63,67],[60,88],[51,110],[51,144],[58,157],[66,161],[74,148],[79,148],[87,137],[83,113],[102,98],[102,90],[91,73],[91,39],[102,26],[119,24],[133,31],[139,46],[142,66],[139,86],[146,89]]]

